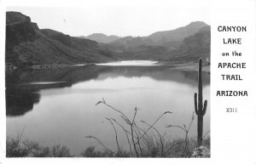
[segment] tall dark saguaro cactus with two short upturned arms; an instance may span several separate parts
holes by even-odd
[[[207,100],[205,100],[204,105],[202,96],[202,79],[201,79],[201,66],[202,61],[199,59],[199,70],[198,70],[198,103],[197,103],[197,93],[194,95],[195,99],[195,113],[197,115],[197,145],[202,144],[202,133],[203,133],[203,118],[207,111]]]

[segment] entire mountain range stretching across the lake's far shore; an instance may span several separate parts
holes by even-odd
[[[39,29],[30,17],[6,13],[6,65],[75,65],[122,59],[187,61],[209,58],[211,28],[201,21],[148,37],[117,37],[95,33],[71,37]]]

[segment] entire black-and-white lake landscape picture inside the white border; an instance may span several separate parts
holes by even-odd
[[[6,157],[211,157],[206,7],[6,9]]]

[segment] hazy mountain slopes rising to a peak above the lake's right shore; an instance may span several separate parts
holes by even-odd
[[[204,34],[201,34],[202,32],[197,34],[204,31],[203,29],[210,31],[209,25],[195,21],[172,31],[158,31],[148,37],[122,37],[101,46],[103,49],[119,54],[119,57],[124,59],[168,60],[173,59],[173,57],[176,59],[177,55],[182,57],[187,55],[189,59],[191,54],[188,54],[188,49],[196,46],[197,50],[203,49],[201,46],[207,47],[206,53],[210,55],[210,44],[207,44],[208,41],[201,37]],[[207,37],[211,40],[210,36]],[[193,44],[194,47],[192,47]],[[201,51],[196,52],[201,53]]]

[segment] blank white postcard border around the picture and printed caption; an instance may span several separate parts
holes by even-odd
[[[179,2],[179,3],[178,3]],[[6,139],[6,122],[5,122],[5,90],[4,90],[4,37],[5,36],[5,7],[6,6],[42,6],[42,7],[81,7],[81,6],[97,6],[99,4],[105,6],[134,6],[134,5],[148,5],[155,7],[159,4],[170,5],[189,5],[192,3],[198,3],[198,5],[210,3],[211,4],[211,25],[212,25],[212,68],[211,68],[211,139],[212,139],[212,157],[209,159],[124,159],[124,158],[5,158],[5,139]],[[0,126],[1,126],[1,142],[0,142],[0,163],[48,163],[48,162],[61,162],[61,163],[256,163],[256,108],[255,108],[255,90],[256,87],[256,54],[255,54],[255,0],[233,0],[233,1],[186,1],[186,4],[180,1],[171,0],[95,0],[95,1],[82,1],[82,0],[3,0],[0,1]],[[215,64],[221,60],[219,58],[219,37],[222,34],[216,31],[216,26],[219,24],[234,23],[240,25],[241,23],[247,24],[251,27],[251,31],[248,32],[248,41],[246,49],[242,51],[246,52],[247,71],[243,74],[247,81],[242,83],[250,93],[247,99],[218,99],[214,93],[218,89],[222,88],[241,88],[242,85],[237,83],[224,83],[219,80],[218,69]],[[249,48],[249,50],[247,49]],[[224,51],[224,48],[222,48]],[[239,113],[230,116],[224,113],[224,107],[226,105],[236,105],[239,108]]]

